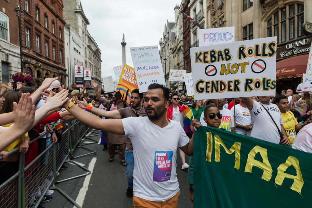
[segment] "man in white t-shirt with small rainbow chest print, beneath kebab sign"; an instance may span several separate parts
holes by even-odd
[[[235,106],[236,133],[250,136],[252,129],[250,112],[241,97],[236,99],[240,101],[240,103]],[[231,112],[234,115],[234,107],[231,108]]]

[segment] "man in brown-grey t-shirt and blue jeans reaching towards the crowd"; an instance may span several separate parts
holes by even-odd
[[[114,119],[147,116],[145,109],[142,106],[143,96],[144,96],[143,93],[140,93],[139,89],[134,89],[130,97],[131,107],[120,108],[117,111],[105,111],[100,108],[92,107],[90,112],[99,116],[103,116],[106,118],[114,118]],[[87,109],[88,105],[85,100],[77,101],[77,102],[78,102],[79,107],[81,107],[82,109]],[[134,157],[133,157],[133,147],[132,147],[132,143],[129,137],[127,137],[125,160],[126,160],[126,176],[128,180],[128,188],[126,191],[126,196],[132,197],[133,196]]]

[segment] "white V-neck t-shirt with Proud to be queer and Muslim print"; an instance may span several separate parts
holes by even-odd
[[[149,201],[165,201],[178,193],[177,148],[189,142],[180,123],[161,128],[149,117],[121,119],[133,145],[133,194]]]

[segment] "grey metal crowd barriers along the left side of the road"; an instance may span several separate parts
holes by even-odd
[[[87,127],[79,121],[74,121],[72,125],[69,123],[68,126],[68,129],[62,133],[62,137],[58,143],[49,145],[27,166],[25,166],[25,154],[19,154],[18,171],[0,185],[0,208],[37,207],[48,189],[59,191],[76,207],[81,207],[60,188],[55,186],[56,183],[86,176],[91,173],[87,168],[70,160],[70,155],[75,148],[80,147],[80,141],[84,138]],[[43,136],[45,134],[32,139],[29,142],[29,146]],[[96,152],[85,147],[82,148],[92,151],[85,155]],[[9,155],[12,155],[18,150],[19,147],[14,148],[12,151],[9,151]],[[0,156],[0,160],[2,160],[2,156]],[[86,173],[57,181],[56,174],[64,162],[71,162],[85,170]]]

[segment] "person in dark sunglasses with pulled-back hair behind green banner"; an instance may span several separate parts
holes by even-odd
[[[216,105],[208,104],[203,109],[203,120],[208,127],[219,128],[221,124],[222,114]],[[203,126],[203,125],[202,125]],[[190,200],[194,201],[194,183],[193,183],[193,156],[190,156],[189,166],[188,166],[188,184],[190,185]]]

